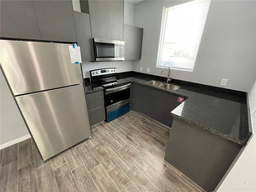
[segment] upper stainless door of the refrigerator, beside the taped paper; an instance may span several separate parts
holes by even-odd
[[[80,64],[71,63],[72,44],[0,41],[0,62],[14,95],[82,83]]]

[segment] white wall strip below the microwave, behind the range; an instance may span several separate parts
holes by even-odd
[[[116,68],[117,72],[132,71],[132,60],[126,61],[104,61],[104,62],[83,62],[82,69],[84,78],[90,77],[90,70],[101,69],[101,68]]]

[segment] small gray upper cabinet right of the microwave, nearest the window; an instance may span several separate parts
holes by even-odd
[[[141,59],[143,28],[124,24],[124,60]]]

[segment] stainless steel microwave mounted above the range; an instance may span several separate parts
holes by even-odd
[[[124,41],[93,38],[94,61],[124,60]]]

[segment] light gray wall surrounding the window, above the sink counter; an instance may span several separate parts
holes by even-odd
[[[178,1],[143,1],[135,5],[134,26],[144,28],[142,59],[133,70],[160,75],[156,68],[164,6]],[[256,1],[212,0],[193,72],[172,70],[172,78],[248,92],[256,76]]]

